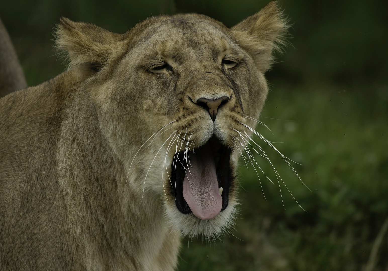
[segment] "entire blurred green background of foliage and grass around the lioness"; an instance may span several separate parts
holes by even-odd
[[[0,17],[32,86],[65,69],[52,46],[61,16],[124,32],[160,13],[198,12],[231,27],[268,2],[5,0]],[[284,142],[274,145],[303,164],[292,163],[308,188],[255,137],[284,183],[251,148],[273,183],[242,157],[236,230],[216,243],[184,239],[179,270],[388,270],[388,2],[280,4],[292,46],[266,74],[260,120],[272,132],[256,130]]]

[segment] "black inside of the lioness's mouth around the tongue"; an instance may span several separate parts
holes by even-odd
[[[232,180],[230,172],[230,152],[231,149],[225,145],[222,145],[220,140],[216,136],[212,136],[208,142],[210,143],[211,150],[214,157],[218,188],[222,187],[222,209],[223,211],[228,206],[229,200],[229,190],[230,190],[230,181]],[[190,150],[190,155],[197,154],[200,149],[196,148]],[[172,186],[170,191],[171,195],[175,198],[175,204],[180,212],[184,214],[191,213],[191,209],[187,204],[186,200],[183,197],[183,180],[185,178],[187,170],[187,161],[184,159],[184,152],[181,151],[178,154],[175,154],[173,163],[171,164],[172,168]],[[188,155],[186,155],[188,156]]]

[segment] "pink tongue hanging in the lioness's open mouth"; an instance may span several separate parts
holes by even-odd
[[[211,219],[220,213],[222,197],[210,144],[190,155],[189,169],[183,180],[183,197],[200,219]]]

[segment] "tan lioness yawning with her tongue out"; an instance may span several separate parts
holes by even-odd
[[[275,2],[231,29],[62,18],[69,69],[0,100],[0,269],[173,270],[181,235],[222,234],[286,28]]]

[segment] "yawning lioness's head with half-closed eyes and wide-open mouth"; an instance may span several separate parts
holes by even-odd
[[[282,21],[272,29],[274,14],[281,16],[275,5],[267,9],[232,29],[187,14],[96,35],[111,43],[111,51],[101,49],[110,52],[102,64],[97,57],[78,63],[68,49],[74,65],[87,70],[81,76],[100,128],[126,169],[122,189],[161,200],[160,212],[185,235],[219,235],[232,223],[237,160],[262,110],[263,74],[285,28]]]

